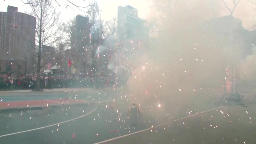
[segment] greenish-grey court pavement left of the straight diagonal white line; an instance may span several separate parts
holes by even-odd
[[[119,99],[119,91],[72,91],[68,97],[84,99],[85,104],[52,106],[43,109],[0,111],[0,143],[96,143],[126,135],[157,124],[152,117],[141,116],[141,123],[131,127],[129,104]],[[2,101],[63,98],[63,91],[36,95],[2,94]],[[143,119],[152,119],[150,123]]]

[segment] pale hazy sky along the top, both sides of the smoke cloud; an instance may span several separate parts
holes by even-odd
[[[16,6],[18,7],[18,12],[28,11],[29,6],[24,5],[20,0],[0,0],[0,11],[7,11],[7,6]],[[26,1],[26,0],[23,0]],[[57,0],[59,4],[69,4],[67,0]],[[91,0],[70,0],[71,2],[79,5],[79,6],[87,6]],[[138,9],[138,16],[147,19],[150,17],[150,1],[152,0],[97,0],[100,5],[101,17],[105,20],[111,19],[112,17],[117,17],[117,7],[122,5],[131,5]],[[215,1],[215,0],[213,0]],[[219,16],[228,15],[229,12],[225,8],[222,0],[216,0],[220,4]],[[54,2],[54,1],[53,1]],[[228,6],[230,8],[233,7],[233,0],[226,0]],[[55,3],[55,2],[54,2]],[[55,3],[57,4],[57,3]],[[75,17],[77,14],[86,15],[86,13],[80,11],[75,6],[71,5],[73,9],[66,8],[65,6],[58,6],[58,9],[61,11],[60,20],[65,22],[70,18]],[[241,0],[240,4],[237,6],[234,14],[234,17],[240,18],[243,22],[243,26],[246,29],[251,29],[253,25],[255,25],[256,21],[256,6],[254,2],[250,2],[249,0]]]

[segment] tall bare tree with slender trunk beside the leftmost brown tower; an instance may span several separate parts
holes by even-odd
[[[36,17],[36,49],[34,56],[37,59],[37,86],[40,90],[40,70],[41,70],[41,49],[42,45],[52,45],[59,38],[56,38],[56,24],[59,20],[59,12],[47,0],[27,0],[26,4],[31,7],[31,15]],[[45,63],[46,64],[46,63]],[[44,65],[45,65],[44,64]]]

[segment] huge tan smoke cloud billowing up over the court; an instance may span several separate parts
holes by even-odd
[[[131,103],[150,109],[163,104],[170,113],[213,106],[224,92],[225,69],[244,59],[241,21],[216,17],[219,3],[211,0],[153,3],[148,22],[157,25],[158,38],[133,68]]]

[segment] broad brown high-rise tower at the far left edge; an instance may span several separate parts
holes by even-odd
[[[29,58],[35,48],[36,18],[8,6],[0,12],[0,59]]]

